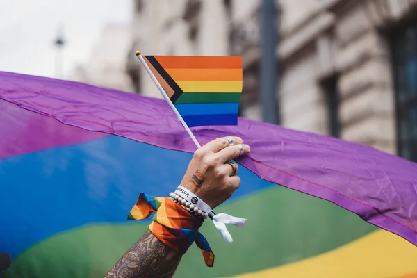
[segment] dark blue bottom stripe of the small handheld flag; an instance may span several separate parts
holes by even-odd
[[[183,117],[188,127],[193,126],[236,126],[238,124],[238,115],[190,115]]]

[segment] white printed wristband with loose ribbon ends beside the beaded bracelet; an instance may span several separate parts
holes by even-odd
[[[209,213],[213,211],[210,206],[208,206],[202,199],[197,197],[194,193],[190,192],[190,190],[183,188],[182,186],[178,186],[177,190],[175,190],[175,194],[183,197],[183,199],[186,199],[187,202],[190,202],[190,204],[194,204],[197,206],[197,208],[204,211],[204,213]],[[220,234],[222,234],[224,240],[226,240],[227,243],[233,242],[233,238],[231,238],[231,235],[229,231],[227,231],[227,227],[225,224],[232,224],[238,227],[243,227],[246,224],[245,218],[236,218],[234,216],[231,216],[226,213],[219,213],[213,216],[213,224],[215,226],[215,229],[218,229]]]

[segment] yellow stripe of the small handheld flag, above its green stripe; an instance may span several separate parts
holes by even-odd
[[[177,81],[183,92],[242,92],[242,81]]]

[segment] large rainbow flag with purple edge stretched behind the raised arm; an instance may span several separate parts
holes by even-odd
[[[251,146],[216,209],[248,222],[230,244],[204,224],[214,267],[193,246],[175,277],[417,277],[416,163],[241,118],[193,131]],[[138,194],[169,193],[194,151],[163,100],[0,72],[4,276],[103,277],[149,225],[126,220]]]

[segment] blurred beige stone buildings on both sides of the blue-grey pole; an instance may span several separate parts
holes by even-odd
[[[243,117],[261,120],[261,0],[135,0],[128,72],[159,96],[133,56],[241,55]],[[279,0],[282,126],[417,161],[416,0]]]

